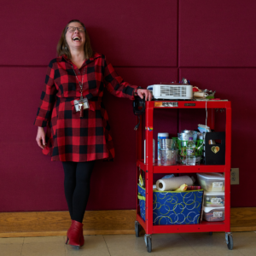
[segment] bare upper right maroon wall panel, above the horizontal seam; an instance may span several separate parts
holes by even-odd
[[[181,67],[256,67],[254,0],[179,1]]]

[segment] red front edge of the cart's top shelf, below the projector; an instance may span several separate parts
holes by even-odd
[[[146,108],[231,108],[229,101],[152,101]]]

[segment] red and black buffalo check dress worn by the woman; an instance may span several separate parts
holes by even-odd
[[[81,93],[73,68],[80,82],[84,74],[83,97],[87,97],[90,104],[82,118],[74,109],[73,101],[79,100]],[[137,89],[136,85],[124,82],[106,57],[98,53],[84,61],[80,68],[66,55],[49,62],[34,125],[47,126],[43,153],[51,155],[51,160],[113,159],[108,113],[102,103],[105,87],[113,96],[130,100],[134,100],[133,92]]]

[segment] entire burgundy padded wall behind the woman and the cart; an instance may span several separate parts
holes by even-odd
[[[232,101],[232,167],[240,168],[241,184],[231,186],[231,206],[256,207],[247,196],[256,178],[250,162],[256,110],[254,9],[253,0],[5,1],[0,9],[0,212],[67,210],[61,162],[41,153],[32,124],[46,67],[72,19],[84,22],[93,48],[107,55],[127,82],[145,88],[186,77]],[[129,100],[107,91],[104,103],[116,158],[96,163],[87,209],[134,209],[136,119]],[[154,138],[163,130],[175,135],[177,126],[190,129],[204,114],[158,112]]]

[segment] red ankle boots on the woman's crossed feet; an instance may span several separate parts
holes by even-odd
[[[67,241],[69,245],[79,249],[79,247],[84,245],[84,236],[83,234],[83,225],[82,223],[73,220],[71,227],[67,230]]]

